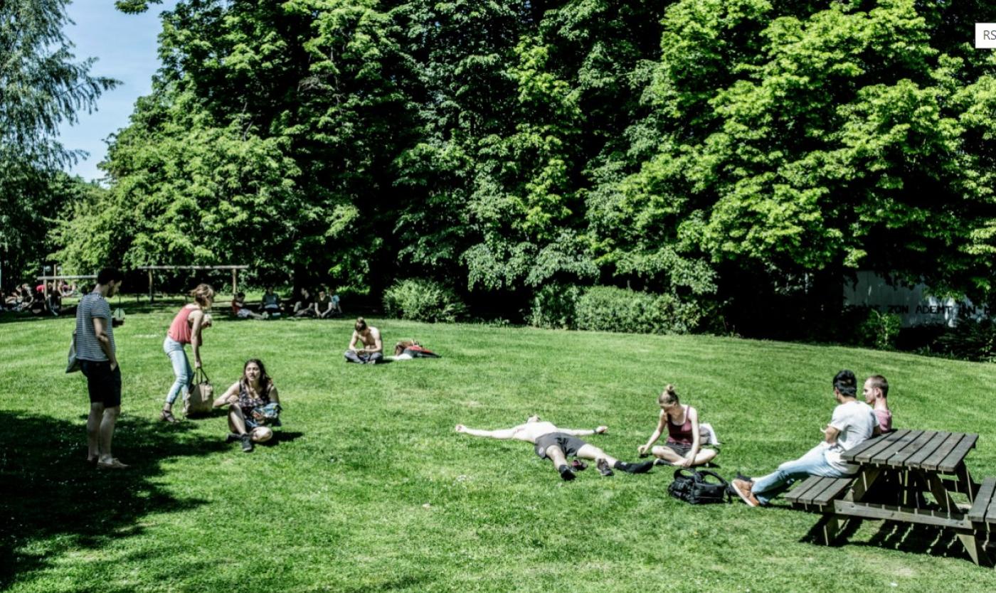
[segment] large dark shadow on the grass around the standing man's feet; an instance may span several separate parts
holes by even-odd
[[[58,561],[58,550],[97,549],[140,534],[141,517],[203,503],[154,484],[166,458],[205,456],[224,443],[177,427],[123,416],[115,453],[130,468],[98,470],[86,462],[85,422],[0,411],[0,590]],[[52,549],[57,548],[56,553]]]

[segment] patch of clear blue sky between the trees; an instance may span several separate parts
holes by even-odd
[[[162,30],[159,13],[175,5],[176,0],[165,0],[140,15],[118,12],[114,0],[75,0],[69,5],[69,16],[76,24],[66,29],[66,36],[76,45],[77,60],[97,58],[92,75],[123,83],[101,96],[97,111],[79,113],[76,125],[63,123],[59,138],[63,145],[90,153],[69,169],[70,173],[88,181],[104,176],[97,168],[107,154],[104,140],[127,125],[135,99],[151,90],[152,75],[159,68],[155,53],[156,38]]]

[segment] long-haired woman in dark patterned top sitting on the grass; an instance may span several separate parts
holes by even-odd
[[[242,378],[228,388],[214,407],[228,406],[229,441],[241,441],[242,452],[252,452],[253,443],[273,438],[266,425],[280,426],[280,398],[263,361],[250,358],[242,367]]]

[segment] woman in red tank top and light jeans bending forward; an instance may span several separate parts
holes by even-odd
[[[173,416],[173,403],[181,393],[186,398],[190,391],[190,383],[193,381],[193,369],[190,368],[190,360],[187,359],[183,346],[190,344],[193,349],[194,364],[200,368],[200,346],[204,343],[201,332],[205,327],[211,326],[211,315],[207,314],[207,310],[214,302],[214,289],[211,285],[197,285],[196,289],[190,291],[190,296],[194,301],[184,305],[176,313],[169,324],[166,339],[162,342],[162,350],[169,357],[173,365],[173,375],[176,377],[169,387],[169,392],[166,393],[162,412],[159,413],[159,420],[163,422],[176,422]]]

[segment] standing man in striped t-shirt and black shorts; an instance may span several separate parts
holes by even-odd
[[[107,299],[121,289],[124,275],[105,268],[94,292],[76,309],[76,357],[87,377],[90,416],[87,418],[87,461],[104,470],[124,470],[111,454],[115,423],[122,411],[122,371],[118,366],[114,322]]]

